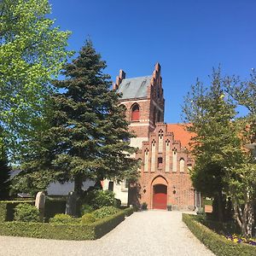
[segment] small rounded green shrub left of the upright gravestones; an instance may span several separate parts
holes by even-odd
[[[24,203],[15,207],[15,220],[24,222],[39,222],[39,211],[37,207]]]

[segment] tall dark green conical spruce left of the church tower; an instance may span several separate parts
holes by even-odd
[[[41,156],[33,158],[48,162],[39,169],[55,170],[56,180],[74,181],[78,194],[86,179],[119,182],[137,177],[137,160],[131,158],[136,149],[129,145],[132,135],[119,95],[109,90],[110,77],[102,73],[105,67],[87,40],[64,68],[66,79],[54,83],[59,92],[53,96],[51,128],[43,135]]]

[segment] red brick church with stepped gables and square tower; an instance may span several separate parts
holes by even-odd
[[[137,184],[139,203],[146,202],[149,209],[166,209],[168,205],[173,209],[195,209],[200,197],[189,177],[193,166],[188,154],[191,135],[183,125],[164,123],[160,64],[146,77],[126,79],[125,72],[120,70],[113,89],[122,93],[120,104],[125,105],[130,129],[137,135],[131,139],[131,146],[139,148],[134,157],[142,163]],[[110,187],[122,204],[128,203],[125,181],[105,181],[103,189]]]

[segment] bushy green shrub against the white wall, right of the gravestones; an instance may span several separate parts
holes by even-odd
[[[114,203],[114,194],[109,190],[94,189],[90,190],[85,196],[85,203],[94,209],[110,207]]]

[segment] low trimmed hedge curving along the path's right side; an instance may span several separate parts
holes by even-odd
[[[183,222],[187,224],[189,230],[213,253],[218,256],[248,256],[256,255],[256,247],[234,243],[219,236],[205,225],[196,221],[195,215],[183,213]]]

